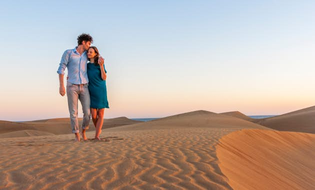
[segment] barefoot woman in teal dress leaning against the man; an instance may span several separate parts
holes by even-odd
[[[109,108],[106,90],[106,70],[104,64],[98,64],[99,52],[95,46],[87,50],[87,77],[88,90],[90,95],[90,108],[92,121],[96,128],[95,139],[100,140],[99,134],[103,125],[104,108]],[[83,139],[87,139],[85,132]]]

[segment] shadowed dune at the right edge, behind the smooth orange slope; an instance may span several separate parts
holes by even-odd
[[[255,122],[276,130],[315,133],[315,106],[257,119]]]

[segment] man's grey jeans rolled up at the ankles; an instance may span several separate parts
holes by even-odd
[[[77,120],[77,100],[79,99],[83,110],[82,129],[88,129],[89,120],[91,117],[90,98],[87,83],[86,84],[72,84],[66,83],[66,94],[68,98],[68,107],[71,120],[72,133],[79,132]]]

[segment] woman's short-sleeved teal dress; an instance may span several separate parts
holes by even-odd
[[[104,65],[105,72],[105,65]],[[109,108],[107,101],[106,81],[101,79],[99,65],[87,63],[88,91],[91,108]]]

